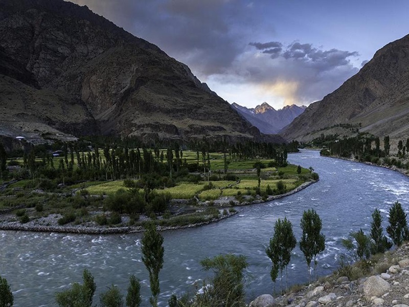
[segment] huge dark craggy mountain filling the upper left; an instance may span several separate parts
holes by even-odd
[[[265,137],[187,65],[62,0],[0,0],[0,135]]]

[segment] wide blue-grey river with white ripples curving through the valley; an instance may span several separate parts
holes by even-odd
[[[409,209],[409,179],[402,174],[345,160],[320,157],[302,150],[288,155],[292,164],[313,167],[320,181],[285,198],[239,207],[239,214],[199,228],[164,232],[165,264],[161,271],[161,306],[172,293],[194,292],[205,278],[199,261],[219,253],[237,253],[249,264],[247,299],[271,293],[270,260],[264,250],[277,218],[286,216],[301,236],[300,218],[314,208],[323,220],[326,250],[318,257],[318,274],[331,273],[343,252],[341,238],[350,231],[368,231],[371,213],[380,209],[384,224],[395,201]],[[142,234],[75,235],[0,231],[0,275],[13,291],[16,307],[55,306],[54,294],[70,282],[81,282],[86,268],[95,277],[97,295],[111,284],[125,294],[130,274],[142,280],[143,305],[148,305],[148,274],[141,260]],[[297,247],[288,270],[289,284],[308,280],[304,257]]]

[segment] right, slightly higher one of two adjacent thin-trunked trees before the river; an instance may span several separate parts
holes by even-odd
[[[308,266],[308,282],[311,281],[311,260],[314,259],[314,275],[316,276],[316,256],[325,250],[325,235],[321,233],[322,220],[314,209],[304,211],[300,223],[303,231],[300,249]]]

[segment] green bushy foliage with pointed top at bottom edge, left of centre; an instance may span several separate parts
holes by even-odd
[[[55,301],[59,307],[92,307],[97,289],[94,277],[85,269],[82,280],[82,285],[75,282],[70,289],[55,294]]]

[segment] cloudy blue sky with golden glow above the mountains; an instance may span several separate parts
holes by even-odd
[[[409,33],[409,1],[74,0],[144,38],[230,103],[322,99]]]

